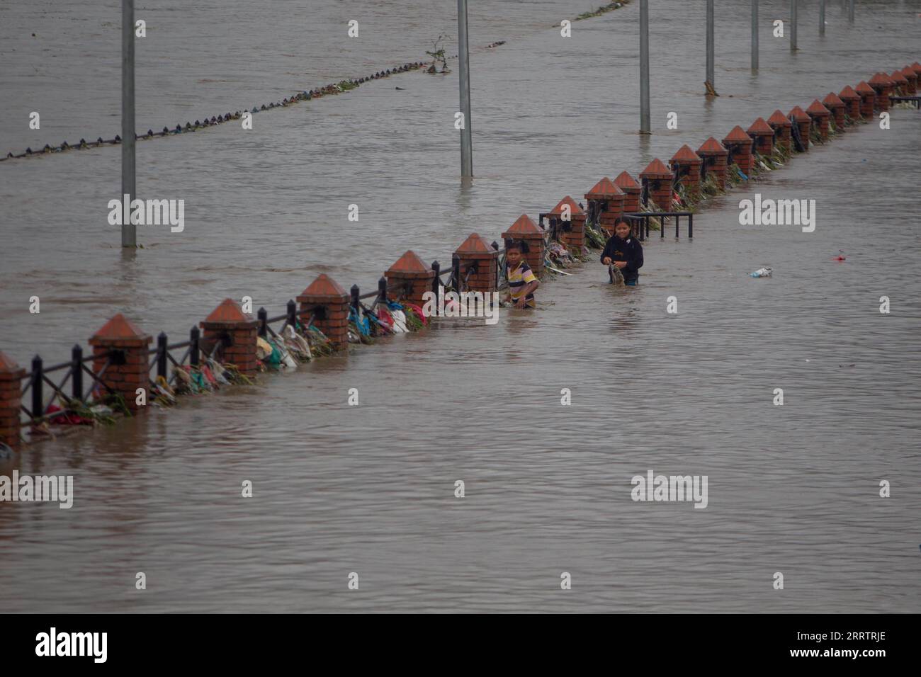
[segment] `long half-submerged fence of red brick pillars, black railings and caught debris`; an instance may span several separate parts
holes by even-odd
[[[654,158],[639,181],[626,171],[613,181],[602,178],[585,193],[587,207],[566,195],[541,213],[538,223],[519,216],[502,238],[528,244],[524,259],[538,276],[556,271],[554,265],[586,260],[589,247],[603,247],[621,218],[633,224],[638,239],[647,239],[650,221],[658,220],[661,239],[669,218],[679,237],[683,217],[691,238],[695,204],[774,169],[794,152],[808,152],[810,145],[825,143],[848,126],[867,122],[874,111],[888,111],[892,103],[921,105],[919,76],[921,64],[915,62],[892,76],[878,73],[856,88],[829,93],[805,111],[799,106],[787,114],[774,111],[747,130],[737,126],[722,142],[710,137],[696,151],[682,146],[668,165]],[[673,206],[690,208],[670,211]],[[70,360],[45,367],[35,356],[27,371],[0,353],[0,442],[19,445],[24,429],[31,440],[59,423],[111,422],[117,415],[144,411],[150,403],[169,406],[181,394],[249,383],[260,370],[281,362],[296,366],[349,343],[420,329],[437,315],[437,309],[424,309],[427,293],[499,289],[503,255],[498,242],[487,243],[472,233],[452,253],[446,270],[437,261],[426,266],[414,251],[406,251],[379,279],[378,289],[365,294],[358,286],[346,293],[320,274],[287,301],[283,314],[272,317],[259,309],[253,318],[226,298],[192,327],[188,340],[178,343],[160,333],[153,344],[149,334],[118,313],[89,338],[91,355],[77,344]],[[370,305],[364,302],[371,298]]]

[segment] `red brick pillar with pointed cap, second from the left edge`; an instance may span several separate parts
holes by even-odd
[[[124,398],[124,403],[133,414],[146,407],[135,403],[137,389],[144,388],[149,400],[150,391],[150,356],[147,354],[153,339],[149,334],[143,333],[122,313],[116,313],[112,319],[89,338],[93,348],[93,373],[99,375],[106,361],[109,366],[99,379],[112,391]],[[111,351],[117,351],[115,356],[107,357]],[[101,390],[100,396],[105,396],[107,390]]]

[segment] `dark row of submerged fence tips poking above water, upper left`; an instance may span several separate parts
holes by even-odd
[[[406,73],[408,71],[418,70],[419,68],[424,67],[426,64],[420,62],[413,62],[411,64],[403,64],[396,68],[388,68],[385,71],[379,71],[373,75],[366,77],[359,77],[352,80],[341,80],[332,85],[325,85],[321,88],[304,90],[298,92],[293,97],[282,99],[281,101],[276,101],[274,103],[269,103],[268,105],[262,104],[262,106],[253,106],[251,113],[257,113],[262,111],[271,111],[274,108],[284,108],[300,101],[309,101],[311,99],[320,99],[321,97],[332,95],[332,94],[341,94],[351,89],[357,88],[363,83],[369,82],[371,80],[377,80],[381,77],[389,77],[391,75],[396,75],[398,73]],[[169,127],[164,127],[162,131],[155,132],[152,129],[148,129],[146,134],[134,134],[134,138],[137,140],[146,140],[152,139],[157,136],[173,136],[176,134],[186,134],[188,132],[195,132],[199,129],[204,129],[205,127],[213,127],[216,124],[229,123],[231,120],[239,120],[245,111],[235,111],[232,113],[225,113],[223,115],[212,116],[211,118],[204,118],[204,120],[196,120],[194,123],[185,123],[185,126],[177,124],[175,127],[170,129]],[[0,162],[8,159],[17,159],[17,158],[37,158],[39,156],[48,155],[50,153],[62,153],[67,150],[85,150],[87,148],[98,148],[99,146],[116,146],[122,143],[122,137],[118,134],[115,134],[115,138],[104,140],[101,136],[96,141],[87,141],[86,139],[80,139],[79,143],[68,144],[66,141],[62,142],[60,146],[51,146],[46,144],[41,150],[32,150],[31,147],[26,148],[25,152],[20,153],[19,155],[14,155],[13,153],[7,153],[6,158],[0,158]]]

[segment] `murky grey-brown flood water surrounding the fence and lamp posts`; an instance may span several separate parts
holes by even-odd
[[[119,5],[0,6],[3,154],[120,133]],[[748,3],[717,0],[707,100],[702,4],[650,3],[644,138],[638,2],[563,39],[551,27],[592,8],[571,5],[471,2],[470,187],[456,61],[259,113],[251,131],[139,142],[138,193],[184,199],[185,230],[138,227],[133,255],[106,220],[119,148],[0,162],[0,350],[62,361],[116,311],[180,340],[226,297],[280,314],[319,273],[371,290],[407,249],[447,263],[472,231],[498,239],[602,176],[918,59],[921,2],[860,2],[854,27],[829,2],[821,39],[818,3],[800,2],[791,54],[771,35],[787,3],[763,1],[753,75]],[[453,2],[137,17],[145,131],[425,60],[439,33],[457,52]],[[705,204],[694,239],[654,234],[636,288],[589,263],[494,326],[441,319],[0,461],[75,483],[70,509],[0,503],[3,610],[917,612],[919,154],[921,114],[894,110],[889,130],[862,125]],[[740,226],[754,193],[815,199],[815,232]],[[747,275],[764,265],[772,278]],[[707,475],[707,508],[634,502],[648,470]]]

